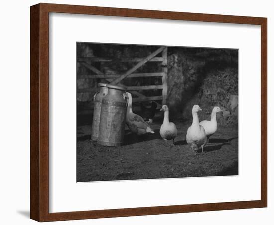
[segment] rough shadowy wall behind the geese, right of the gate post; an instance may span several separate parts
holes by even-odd
[[[168,56],[171,117],[188,120],[194,104],[209,119],[214,106],[224,110],[221,124],[238,123],[238,51],[173,49]]]

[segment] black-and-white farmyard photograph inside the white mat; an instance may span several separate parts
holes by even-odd
[[[76,43],[77,182],[238,175],[238,49]]]

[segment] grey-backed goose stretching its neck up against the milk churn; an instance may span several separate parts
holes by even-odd
[[[132,95],[131,95],[131,93],[126,92],[125,95],[128,98],[126,124],[128,125],[131,132],[134,134],[137,134],[137,135],[143,135],[146,133],[154,134],[155,132],[143,120],[143,118],[132,112]]]

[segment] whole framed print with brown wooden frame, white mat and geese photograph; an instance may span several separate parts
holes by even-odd
[[[31,6],[31,218],[267,207],[267,19]]]

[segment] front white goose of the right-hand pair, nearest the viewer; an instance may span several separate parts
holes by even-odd
[[[201,147],[204,153],[204,146],[207,143],[207,137],[203,126],[199,125],[198,112],[202,111],[199,105],[194,105],[192,108],[193,121],[191,126],[187,129],[186,142],[191,146],[193,153]]]

